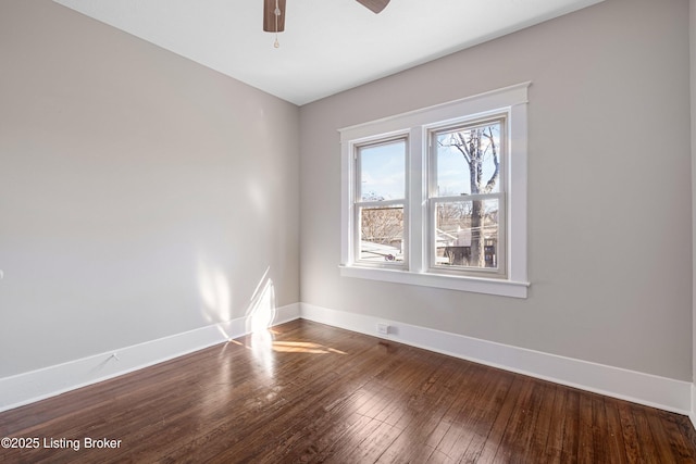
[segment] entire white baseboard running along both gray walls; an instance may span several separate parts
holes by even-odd
[[[696,387],[688,381],[306,303],[277,309],[273,325],[298,317],[684,414],[696,426]],[[377,323],[389,326],[387,335],[377,334]],[[247,318],[240,317],[0,378],[0,412],[225,342],[248,334],[247,324]]]

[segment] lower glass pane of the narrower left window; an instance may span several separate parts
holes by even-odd
[[[360,260],[403,261],[403,205],[360,208]]]

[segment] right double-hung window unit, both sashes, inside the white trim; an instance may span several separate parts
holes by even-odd
[[[430,133],[431,271],[504,277],[507,114]]]

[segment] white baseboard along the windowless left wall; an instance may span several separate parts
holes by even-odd
[[[299,303],[278,308],[272,324],[299,318]],[[249,333],[247,317],[0,378],[0,412],[97,384]]]

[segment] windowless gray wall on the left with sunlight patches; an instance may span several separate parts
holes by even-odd
[[[299,301],[299,110],[0,1],[0,377]]]

